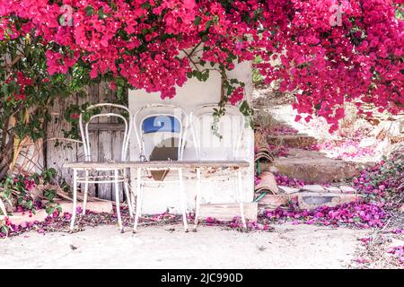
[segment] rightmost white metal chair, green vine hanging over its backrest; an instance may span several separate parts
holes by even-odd
[[[245,118],[236,107],[226,105],[225,115],[215,122],[214,109],[217,103],[206,104],[192,110],[189,115],[190,128],[197,161],[236,161],[242,140]],[[215,125],[215,126],[214,126]],[[215,133],[214,133],[214,129]],[[242,225],[247,228],[242,201],[242,170],[236,170],[236,198],[240,204]],[[209,180],[211,182],[212,180]],[[197,196],[194,230],[198,227],[201,201],[201,169],[197,169]]]

